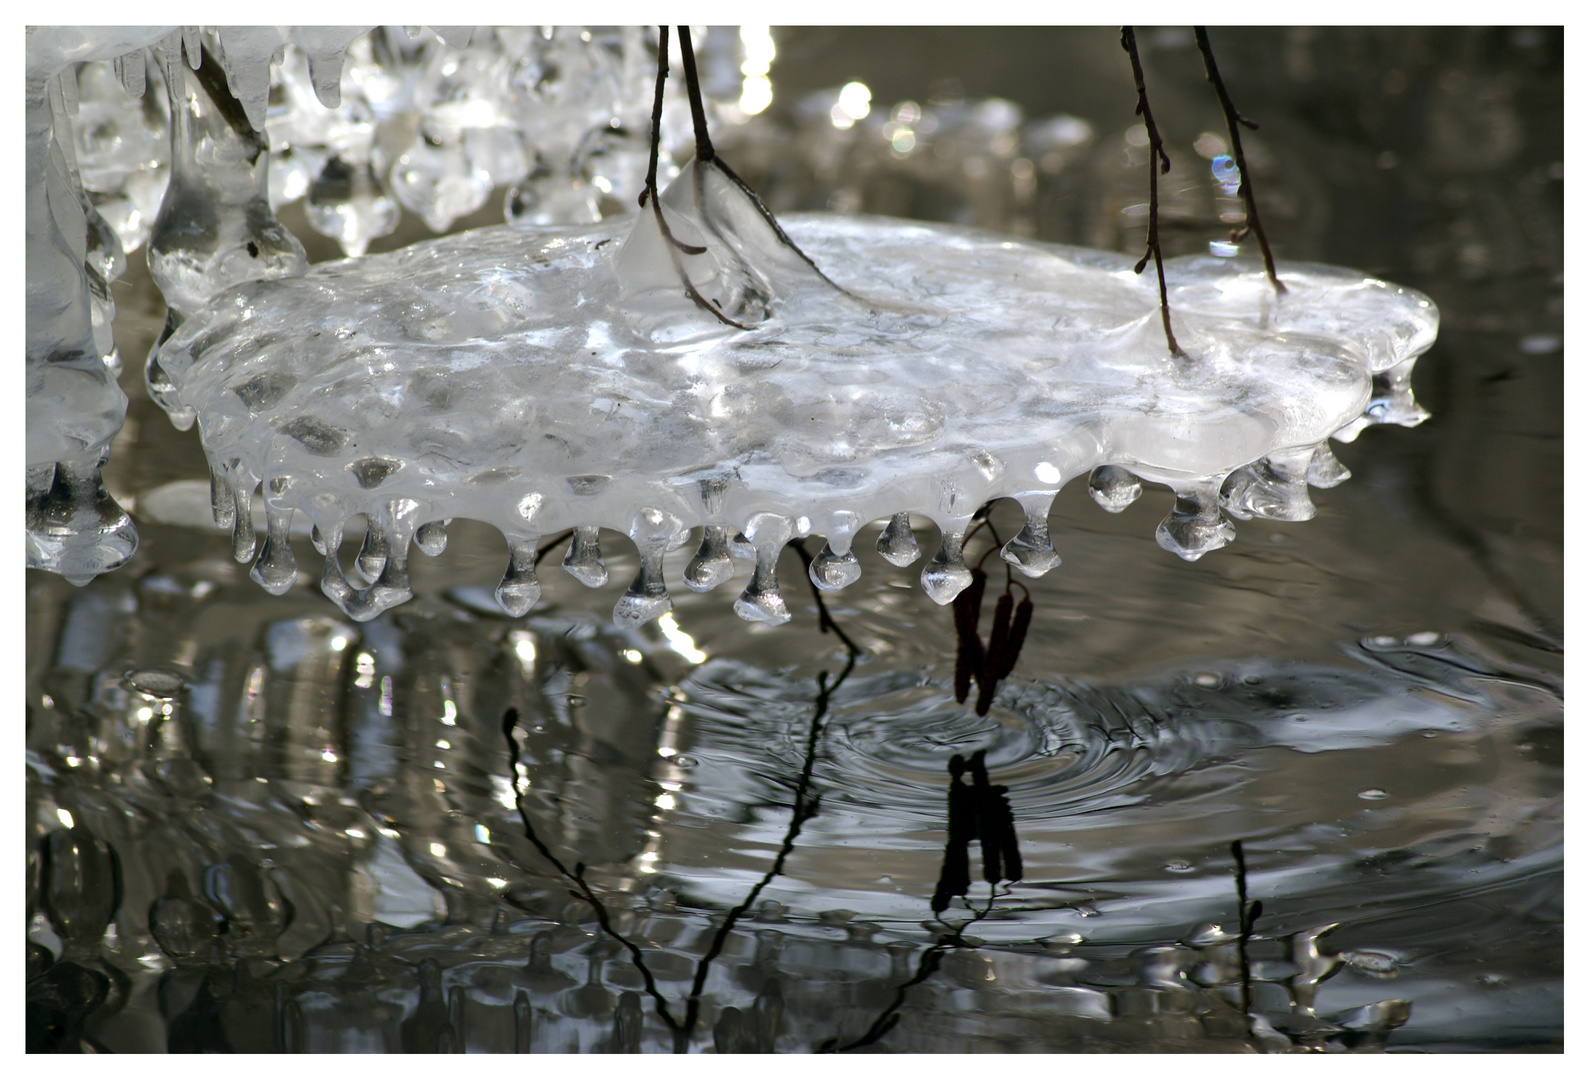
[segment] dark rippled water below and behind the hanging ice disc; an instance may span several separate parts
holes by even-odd
[[[720,145],[776,210],[1140,248],[1113,33],[774,38],[766,122]],[[1207,250],[1220,113],[1189,33],[1140,40],[1167,253]],[[1070,485],[986,716],[952,612],[867,536],[833,631],[793,549],[789,625],[677,590],[620,631],[617,538],[615,584],[558,549],[507,619],[501,538],[466,522],[374,622],[307,576],[264,595],[183,523],[207,471],[143,394],[164,312],[132,259],[107,484],[142,547],[86,589],[27,579],[30,1000],[114,1051],[1558,1050],[1561,35],[1215,46],[1278,256],[1441,307],[1434,417],[1337,445],[1315,520],[1239,522],[1197,563],[1154,544],[1169,491],[1113,515]],[[855,80],[894,110],[876,145],[822,122]],[[979,752],[1021,876],[986,883],[973,843],[935,915],[951,763]]]

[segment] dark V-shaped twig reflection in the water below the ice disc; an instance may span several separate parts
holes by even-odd
[[[555,546],[556,542],[558,541],[555,539],[549,542],[542,550],[539,550],[537,560],[542,555],[545,555],[545,552],[550,550],[552,546]],[[805,544],[801,541],[795,541],[793,547],[809,571],[811,555],[806,552]],[[817,763],[817,741],[822,736],[822,719],[828,714],[828,701],[832,700],[833,692],[838,690],[840,686],[847,678],[851,678],[851,673],[855,670],[855,662],[860,658],[862,649],[833,620],[833,616],[828,612],[828,606],[824,603],[822,593],[817,592],[816,584],[812,584],[812,596],[817,600],[817,627],[822,630],[822,633],[828,633],[832,630],[835,635],[838,635],[840,641],[844,643],[844,651],[846,651],[844,668],[840,671],[840,676],[833,679],[833,682],[828,682],[827,671],[820,671],[817,674],[817,698],[814,703],[816,708],[812,709],[811,727],[808,728],[806,733],[806,759],[805,763],[801,765],[800,779],[795,784],[795,802],[790,813],[789,829],[784,832],[784,841],[782,845],[779,845],[779,853],[773,859],[773,865],[768,867],[768,872],[762,875],[762,880],[750,888],[744,900],[730,908],[728,915],[723,916],[723,923],[717,927],[717,932],[712,935],[712,942],[708,946],[708,951],[696,962],[695,978],[692,980],[690,985],[690,996],[685,1000],[685,1016],[682,1021],[676,1020],[673,1012],[668,1008],[668,1000],[657,988],[657,980],[652,975],[650,967],[647,967],[646,964],[646,956],[644,953],[641,953],[641,946],[614,929],[612,919],[609,918],[607,908],[601,902],[601,897],[598,897],[591,891],[590,884],[585,883],[585,864],[577,862],[574,865],[574,870],[569,870],[563,864],[563,861],[552,853],[547,843],[541,840],[541,837],[536,833],[536,827],[529,819],[529,813],[525,810],[525,800],[518,789],[520,754],[518,754],[518,740],[514,738],[514,728],[518,725],[518,709],[509,708],[502,714],[502,736],[507,740],[509,746],[509,770],[514,784],[514,803],[518,810],[520,822],[523,822],[525,826],[525,838],[529,840],[529,843],[536,848],[536,851],[539,851],[541,856],[547,862],[550,862],[558,873],[561,873],[566,880],[569,880],[576,886],[572,894],[591,907],[591,910],[596,913],[596,921],[601,926],[601,929],[630,951],[630,959],[641,972],[641,978],[646,985],[646,993],[650,994],[652,1000],[657,1004],[657,1015],[673,1032],[674,1053],[688,1053],[690,1050],[690,1035],[695,1032],[695,1028],[701,1018],[701,993],[706,988],[706,980],[708,975],[711,973],[712,962],[723,951],[723,945],[728,942],[728,935],[733,932],[735,924],[746,915],[746,911],[750,910],[750,907],[757,902],[757,897],[773,881],[773,878],[779,876],[784,872],[784,862],[795,849],[795,840],[800,837],[801,827],[817,814],[817,798],[809,797],[809,791],[811,791],[812,768]]]

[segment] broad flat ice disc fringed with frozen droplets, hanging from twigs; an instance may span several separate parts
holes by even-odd
[[[785,218],[819,272],[714,167],[687,165],[661,204],[674,239],[704,253],[671,245],[647,208],[324,264],[192,313],[161,353],[165,404],[199,417],[216,519],[238,523],[234,554],[254,557],[264,482],[256,579],[291,584],[302,512],[329,552],[323,589],[369,619],[409,596],[421,526],[434,549],[439,523],[475,519],[509,539],[499,600],[522,614],[539,596],[541,536],[579,528],[566,566],[606,579],[601,526],[641,552],[615,611],[636,624],[668,609],[661,554],[704,526],[687,584],[720,584],[738,549],[757,571],[736,611],[782,622],[773,566],[792,536],[825,536],[812,581],[843,587],[863,525],[890,519],[886,555],[908,563],[902,515],[925,515],[941,541],[922,582],[948,603],[983,503],[1022,504],[1027,528],[1003,554],[1038,574],[1059,561],[1045,525],[1059,488],[1092,474],[1096,498],[1121,509],[1135,476],[1177,491],[1159,542],[1197,558],[1231,539],[1223,507],[1310,517],[1307,484],[1345,479],[1331,434],[1421,418],[1407,371],[1436,309],[1363,274],[1283,264],[1277,294],[1255,262],[1172,259],[1189,353],[1173,358],[1153,275],[1127,256]],[[361,514],[369,584],[350,582],[335,550]]]

